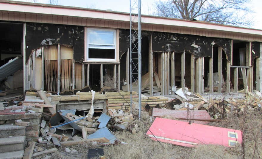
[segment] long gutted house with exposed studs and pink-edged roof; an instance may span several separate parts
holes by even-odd
[[[91,105],[94,113],[130,112],[130,95],[138,101],[135,86],[130,94],[130,66],[137,66],[130,63],[129,13],[0,0],[0,28],[0,100],[26,95],[24,106],[37,108],[26,110],[41,112],[0,115],[3,123],[40,124],[65,109],[86,116]],[[262,92],[262,30],[148,15],[141,29],[143,109],[167,104],[180,88],[207,99]],[[26,139],[38,141],[39,131]]]

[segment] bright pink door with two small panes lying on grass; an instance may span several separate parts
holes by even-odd
[[[155,138],[157,138],[160,142],[186,147],[194,147],[199,144],[235,147],[242,143],[242,132],[239,130],[196,123],[188,124],[188,122],[158,117],[154,120],[146,135],[155,141]]]

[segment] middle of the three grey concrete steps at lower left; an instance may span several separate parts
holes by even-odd
[[[0,139],[0,153],[24,150],[26,136],[13,136]]]

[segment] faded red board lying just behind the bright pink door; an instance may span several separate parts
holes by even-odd
[[[205,110],[171,110],[171,109],[158,109],[153,108],[152,117],[164,117],[164,116],[170,116],[172,118],[180,119],[180,121],[187,122],[187,119],[192,120],[193,123],[196,124],[207,124],[211,121],[211,117],[209,116],[208,112]],[[199,120],[207,120],[207,121],[199,121]],[[210,121],[208,121],[210,120]]]

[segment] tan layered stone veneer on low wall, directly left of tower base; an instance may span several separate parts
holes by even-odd
[[[130,92],[106,92],[108,109],[122,109],[130,111]],[[132,92],[132,99],[138,102],[138,93]]]

